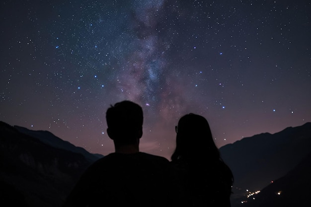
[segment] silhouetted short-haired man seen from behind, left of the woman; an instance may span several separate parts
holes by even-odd
[[[115,152],[94,162],[81,176],[65,207],[169,206],[169,161],[139,151],[142,107],[122,101],[106,112],[107,133]]]

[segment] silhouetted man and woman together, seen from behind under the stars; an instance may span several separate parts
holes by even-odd
[[[207,120],[187,114],[176,130],[171,162],[139,150],[143,110],[122,101],[106,112],[115,152],[80,177],[64,207],[230,207],[233,174],[221,159]]]

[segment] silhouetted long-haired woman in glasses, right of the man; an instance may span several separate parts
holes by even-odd
[[[196,114],[175,127],[172,165],[182,186],[183,203],[191,207],[230,207],[233,174],[220,156],[207,120]]]

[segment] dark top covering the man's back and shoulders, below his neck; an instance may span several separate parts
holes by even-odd
[[[65,206],[165,207],[169,185],[169,161],[164,157],[111,153],[84,172]]]

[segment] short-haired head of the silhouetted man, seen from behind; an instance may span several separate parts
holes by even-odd
[[[135,144],[143,136],[143,109],[132,101],[122,101],[106,112],[107,133],[115,145]]]

